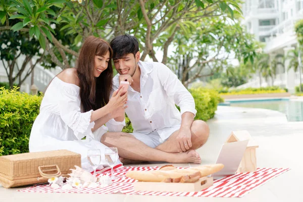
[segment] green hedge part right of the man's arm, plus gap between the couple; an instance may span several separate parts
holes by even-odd
[[[215,116],[217,106],[219,103],[223,103],[224,99],[220,97],[217,91],[205,88],[189,89],[195,102],[195,109],[197,114],[195,119],[207,121]],[[177,107],[180,111],[179,107]],[[123,128],[123,132],[132,132],[133,128],[131,122],[126,117],[126,126]]]

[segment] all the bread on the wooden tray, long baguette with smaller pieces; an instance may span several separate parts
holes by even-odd
[[[199,178],[220,171],[223,164],[204,165],[187,169],[165,166],[153,171],[129,171],[127,177],[143,182],[195,182]]]

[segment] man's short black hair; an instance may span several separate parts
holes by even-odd
[[[113,60],[121,59],[128,54],[134,56],[139,51],[139,43],[136,37],[128,34],[117,36],[111,41],[111,47],[113,48]]]

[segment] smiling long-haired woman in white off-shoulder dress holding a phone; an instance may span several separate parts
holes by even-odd
[[[104,153],[106,146],[100,143],[108,130],[104,124],[124,111],[127,100],[122,90],[110,98],[112,56],[108,42],[94,36],[85,40],[77,68],[59,73],[45,91],[30,134],[30,152],[68,149],[81,154],[84,168],[90,167],[87,149]]]

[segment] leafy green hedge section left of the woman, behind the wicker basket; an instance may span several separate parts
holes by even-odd
[[[30,131],[42,97],[0,88],[0,156],[28,152]]]

